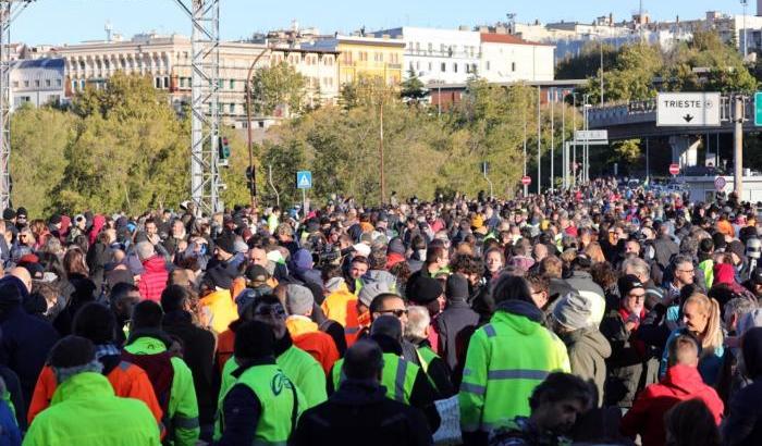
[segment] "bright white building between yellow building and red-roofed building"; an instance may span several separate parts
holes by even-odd
[[[403,26],[373,35],[389,35],[405,41],[405,78],[413,70],[423,84],[465,83],[479,67],[480,40],[477,32]]]

